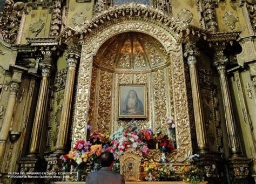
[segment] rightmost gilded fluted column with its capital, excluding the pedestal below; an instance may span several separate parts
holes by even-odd
[[[225,45],[224,45],[225,46]],[[228,146],[230,147],[231,156],[237,156],[240,154],[240,144],[238,138],[238,130],[235,125],[234,113],[232,108],[230,88],[228,87],[226,64],[227,57],[224,55],[224,46],[218,45],[215,47],[214,53],[214,65],[217,67],[220,79],[220,88],[224,104],[224,113],[228,134]]]

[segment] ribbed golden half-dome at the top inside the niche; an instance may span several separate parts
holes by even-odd
[[[168,60],[164,47],[149,35],[125,32],[107,40],[95,62],[111,69],[153,69]]]

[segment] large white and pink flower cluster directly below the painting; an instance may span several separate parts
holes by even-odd
[[[140,139],[139,131],[136,124],[130,122],[130,127],[127,130],[120,127],[110,135],[111,145],[108,149],[114,154],[116,160],[128,150],[140,156],[147,155],[149,148]]]

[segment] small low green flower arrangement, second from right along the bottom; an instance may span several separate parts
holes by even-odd
[[[158,181],[174,181],[177,177],[172,166],[167,166],[166,163],[163,163],[161,168],[158,169],[156,178]]]

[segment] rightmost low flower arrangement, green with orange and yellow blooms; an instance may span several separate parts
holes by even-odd
[[[183,166],[181,169],[183,181],[197,184],[204,180],[203,172],[196,166]]]

